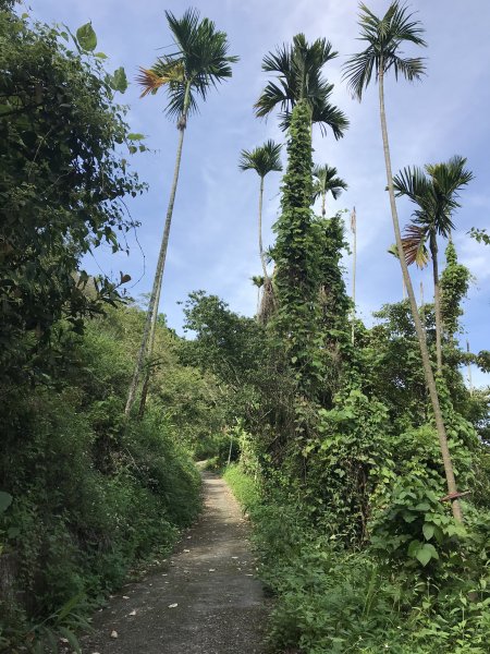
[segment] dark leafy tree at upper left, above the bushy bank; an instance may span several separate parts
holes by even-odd
[[[90,55],[94,31],[77,34],[74,51],[60,28],[0,14],[0,384],[42,380],[59,363],[50,343],[127,281],[89,279],[79,263],[102,242],[121,250],[135,225],[124,198],[144,186],[120,152],[125,108]]]

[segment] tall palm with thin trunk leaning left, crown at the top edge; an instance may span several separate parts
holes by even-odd
[[[454,479],[453,463],[448,447],[448,436],[442,419],[441,405],[439,402],[436,379],[429,359],[429,351],[424,334],[420,316],[417,311],[414,288],[408,274],[405,256],[403,254],[402,234],[400,231],[400,221],[396,210],[396,201],[393,186],[393,173],[391,169],[390,144],[388,140],[387,114],[384,109],[384,75],[392,70],[397,78],[403,75],[409,82],[420,78],[425,72],[425,65],[421,58],[403,58],[401,52],[402,44],[413,44],[416,46],[426,46],[421,35],[424,29],[418,21],[413,19],[407,8],[400,4],[397,0],[392,2],[382,19],[376,16],[366,4],[360,4],[360,40],[366,41],[367,46],[357,55],[352,56],[344,68],[344,78],[359,101],[363,98],[363,92],[369,85],[375,73],[378,81],[379,110],[381,121],[381,135],[384,150],[384,164],[387,168],[388,192],[390,196],[391,217],[393,230],[396,240],[396,247],[400,255],[400,265],[402,267],[403,278],[411,303],[412,316],[420,346],[424,372],[427,387],[429,389],[432,410],[436,419],[436,426],[441,448],[442,461],[444,464],[445,479],[448,483],[449,497],[453,516],[457,521],[463,520],[456,481]]]

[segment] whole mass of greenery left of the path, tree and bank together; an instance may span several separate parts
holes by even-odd
[[[212,379],[179,363],[181,339],[161,318],[149,410],[124,420],[144,312],[121,303],[127,276],[89,277],[81,261],[101,240],[120,247],[133,226],[124,197],[143,186],[127,170],[136,146],[115,99],[123,71],[106,73],[94,47],[89,25],[71,37],[0,12],[8,652],[73,640],[138,560],[172,547],[200,505],[191,452],[220,424]]]

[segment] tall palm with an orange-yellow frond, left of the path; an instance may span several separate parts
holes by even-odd
[[[226,34],[217,31],[215,23],[209,19],[199,20],[199,12],[196,10],[186,10],[182,19],[177,19],[170,11],[166,11],[166,17],[174,39],[175,50],[170,55],[159,57],[150,69],[139,69],[140,73],[137,82],[143,87],[142,97],[149,94],[154,95],[161,87],[167,88],[168,104],[166,112],[169,118],[176,119],[176,128],[180,134],[160,254],[146,314],[142,344],[130,386],[125,408],[126,415],[128,415],[136,396],[145,354],[148,352],[150,356],[152,352],[154,341],[149,339],[149,336],[151,323],[155,324],[158,314],[155,304],[163,279],[187,119],[197,110],[199,98],[206,100],[210,88],[231,77],[231,64],[238,60],[237,57],[228,56]],[[155,329],[152,334],[155,337]]]

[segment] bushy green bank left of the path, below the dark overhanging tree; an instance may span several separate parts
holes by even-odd
[[[68,638],[65,628],[76,631],[138,560],[168,552],[199,510],[199,477],[172,419],[172,404],[177,411],[184,401],[179,388],[167,387],[163,408],[157,377],[145,420],[122,421],[142,319],[126,308],[89,320],[83,337],[72,337],[56,385],[11,388],[2,407],[0,485],[13,499],[0,517],[0,556],[10,561],[14,588],[0,602],[11,646]],[[156,352],[164,354],[168,378],[192,372],[161,350],[174,338],[158,328]],[[194,396],[200,387],[206,398],[200,375],[193,384]],[[76,609],[61,619],[60,607],[73,597]]]

